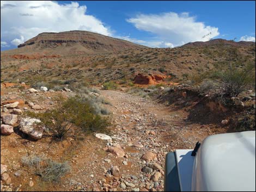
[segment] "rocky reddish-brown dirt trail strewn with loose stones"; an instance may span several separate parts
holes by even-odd
[[[3,190],[163,191],[166,153],[193,148],[197,141],[220,132],[214,126],[188,122],[187,112],[157,100],[120,90],[99,91],[111,103],[105,106],[112,113],[113,126],[107,133],[111,139],[88,135],[84,140],[68,138],[57,142],[43,137],[31,141],[22,139],[16,131],[1,136],[1,164],[7,165],[7,179],[11,178],[1,184]],[[68,94],[62,92],[65,93]],[[40,98],[38,104],[47,108],[51,94],[58,93],[30,95],[32,100]],[[16,96],[9,93],[5,97]],[[44,183],[22,166],[21,158],[28,154],[44,154],[59,162],[67,160],[71,172],[58,184]]]

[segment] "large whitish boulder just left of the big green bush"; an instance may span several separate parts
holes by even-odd
[[[41,123],[39,119],[34,119],[31,117],[23,118],[20,122],[20,131],[28,134],[32,139],[41,139],[42,133],[44,132],[44,127],[39,123]]]

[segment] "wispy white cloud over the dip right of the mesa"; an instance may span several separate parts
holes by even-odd
[[[163,47],[180,46],[193,41],[208,41],[220,35],[217,27],[205,26],[203,22],[196,21],[196,17],[188,13],[140,14],[126,21],[134,24],[139,30],[156,35],[155,45]]]

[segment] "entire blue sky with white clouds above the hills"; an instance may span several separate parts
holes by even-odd
[[[1,50],[77,29],[150,47],[255,41],[255,1],[1,1]]]

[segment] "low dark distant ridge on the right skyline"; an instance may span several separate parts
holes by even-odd
[[[210,41],[196,41],[189,42],[188,44],[183,45],[182,47],[204,47],[204,46],[213,46],[213,45],[231,45],[231,46],[251,46],[255,45],[255,42],[251,41],[231,41],[225,39],[213,39]]]

